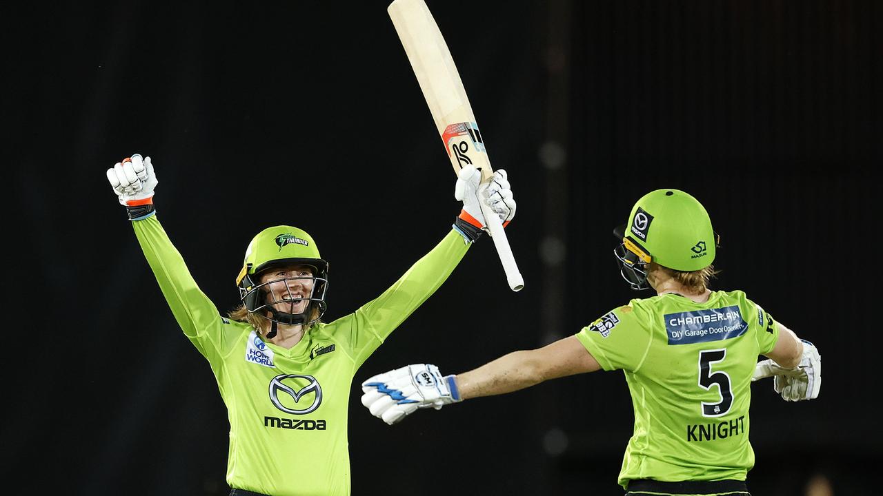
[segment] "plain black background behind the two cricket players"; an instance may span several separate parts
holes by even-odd
[[[114,162],[153,157],[159,217],[223,311],[245,245],[270,225],[317,240],[327,319],[448,232],[454,175],[386,5],[4,7],[6,489],[227,492],[223,402],[110,191]],[[526,287],[508,289],[482,239],[367,360],[351,394],[353,492],[620,494],[621,372],[395,427],[367,413],[358,384],[408,363],[464,372],[648,296],[621,280],[610,233],[645,192],[672,187],[721,233],[713,287],[744,289],[825,357],[814,402],[754,385],[752,492],[832,493],[807,491],[813,479],[872,494],[883,4],[429,7],[509,171]]]

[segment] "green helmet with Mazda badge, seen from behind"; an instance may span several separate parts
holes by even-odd
[[[631,208],[629,222],[614,229],[621,240],[615,257],[632,289],[649,289],[651,261],[681,272],[712,265],[718,237],[705,207],[689,193],[674,189],[645,194]]]

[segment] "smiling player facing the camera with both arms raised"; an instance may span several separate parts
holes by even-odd
[[[380,297],[326,323],[328,262],[306,231],[274,226],[253,238],[236,277],[242,305],[223,317],[162,229],[150,157],[133,154],[108,169],[177,323],[215,373],[230,420],[231,495],[350,494],[347,408],[355,373],[480,237],[479,196],[504,224],[512,220],[506,176],[497,170],[479,185],[479,171],[464,168],[455,188],[463,208],[447,236]]]

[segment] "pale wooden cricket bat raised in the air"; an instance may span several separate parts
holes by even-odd
[[[487,183],[494,176],[494,169],[487,158],[457,65],[432,13],[423,0],[395,0],[387,11],[417,75],[454,172],[459,174],[465,165],[472,164],[481,171],[481,182]],[[509,288],[519,291],[525,287],[525,280],[518,272],[502,222],[484,201],[479,203]]]

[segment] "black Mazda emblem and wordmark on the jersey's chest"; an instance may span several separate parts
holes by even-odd
[[[312,375],[277,375],[270,380],[269,396],[277,409],[291,415],[306,415],[321,405],[322,387]],[[322,419],[264,417],[264,426],[295,431],[324,431],[326,425]]]

